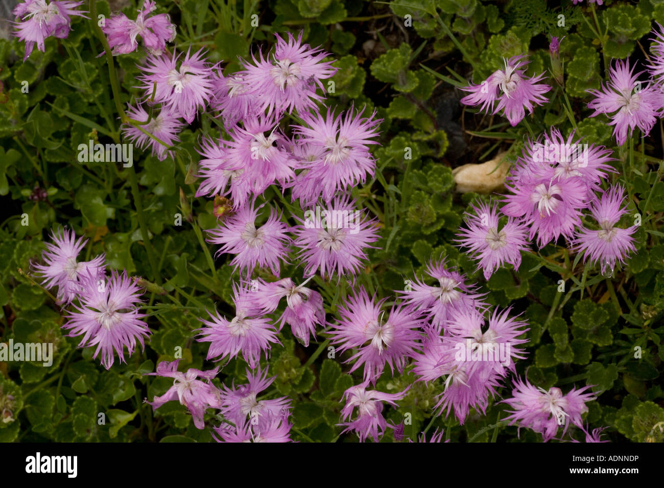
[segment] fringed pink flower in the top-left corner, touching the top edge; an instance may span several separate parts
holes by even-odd
[[[13,24],[16,27],[14,35],[25,41],[25,61],[30,53],[33,52],[35,44],[37,49],[46,52],[44,49],[44,39],[54,36],[58,39],[65,39],[69,35],[72,15],[84,17],[86,11],[77,11],[76,7],[83,2],[76,1],[50,1],[46,0],[26,0],[14,7],[13,14],[17,17],[17,22]]]

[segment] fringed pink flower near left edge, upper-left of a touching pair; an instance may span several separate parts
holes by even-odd
[[[58,287],[58,303],[70,303],[80,291],[80,282],[92,275],[97,280],[104,278],[106,263],[104,254],[96,256],[91,261],[78,262],[78,254],[83,250],[88,240],[83,237],[76,239],[73,230],[58,230],[52,232],[53,244],[46,243],[46,250],[42,254],[44,265],[33,263],[35,272],[42,280],[44,287],[52,289]]]

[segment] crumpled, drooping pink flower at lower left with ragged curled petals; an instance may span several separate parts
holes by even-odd
[[[203,429],[205,428],[205,423],[203,422],[205,410],[208,408],[221,408],[221,392],[212,384],[212,378],[219,372],[219,368],[216,367],[208,371],[189,368],[187,372],[179,372],[177,370],[177,363],[179,361],[179,359],[176,359],[172,363],[161,361],[157,366],[157,372],[147,373],[165,378],[173,378],[173,386],[165,394],[155,396],[152,402],[146,403],[151,405],[154,411],[166,402],[178,400],[191,413],[196,428]],[[199,380],[199,377],[205,381]]]

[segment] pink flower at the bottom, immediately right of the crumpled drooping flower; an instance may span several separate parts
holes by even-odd
[[[256,396],[272,382],[276,376],[268,378],[267,370],[261,372],[260,368],[256,374],[246,370],[247,384],[241,384],[237,388],[233,384],[231,388],[224,386],[221,394],[221,413],[224,418],[241,426],[247,420],[253,425],[269,426],[271,418],[288,418],[291,400],[282,396],[272,400],[256,400]]]

